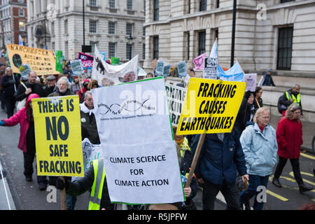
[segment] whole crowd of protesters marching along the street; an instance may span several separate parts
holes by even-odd
[[[14,74],[9,66],[3,67],[3,64],[0,64],[0,67],[3,70],[1,108],[8,116],[8,119],[0,121],[0,126],[9,127],[20,123],[18,148],[24,155],[26,181],[32,181],[36,153],[31,99],[78,94],[82,139],[88,138],[92,144],[100,144],[90,91],[99,87],[97,80],[90,80],[90,78],[80,80],[78,76],[73,75],[71,66],[68,66],[61,76],[50,75],[38,78],[36,73],[31,71],[27,80],[22,80]],[[269,70],[265,73],[265,83],[274,86],[270,73]],[[146,78],[153,77],[153,73],[148,73],[146,76]],[[279,112],[283,117],[279,120],[276,130],[269,125],[270,111],[262,103],[262,92],[262,87],[256,87],[255,92],[245,92],[235,127],[231,133],[205,135],[200,158],[197,160],[195,176],[190,187],[183,188],[186,202],[151,204],[145,207],[133,206],[132,209],[194,210],[196,207],[193,198],[197,195],[198,185],[203,189],[202,207],[205,210],[214,209],[214,202],[219,191],[225,197],[227,209],[239,210],[243,209],[244,205],[246,209],[249,209],[249,200],[258,195],[258,187],[267,188],[269,176],[272,175],[275,167],[272,183],[281,188],[279,176],[288,159],[293,167],[300,193],[312,190],[305,186],[300,174],[299,158],[302,145],[300,85],[294,85],[292,90],[285,92],[279,99]],[[25,106],[14,114],[16,102],[23,100],[25,100]],[[178,146],[181,176],[185,183],[200,135],[193,138],[177,136],[176,127],[173,132]],[[240,180],[241,186],[245,186],[245,189],[240,189],[237,179]],[[39,189],[45,190],[48,183],[60,190],[66,188],[66,207],[69,210],[75,209],[76,197],[87,190],[91,192],[89,209],[116,209],[116,205],[111,204],[109,200],[102,160],[94,161],[90,169],[85,172],[84,178],[77,181],[71,181],[71,178],[63,180],[52,177],[48,180],[46,176],[37,176]],[[95,188],[96,180],[100,181],[102,189]],[[95,195],[101,195],[101,197]],[[258,201],[255,197],[253,209],[261,210],[263,204],[264,202]]]

